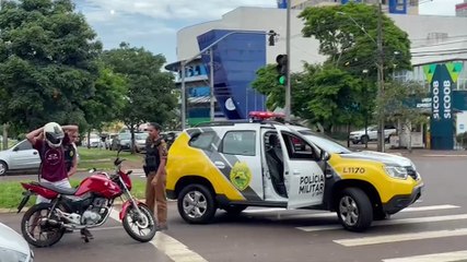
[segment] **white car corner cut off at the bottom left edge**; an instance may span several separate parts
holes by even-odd
[[[26,240],[7,225],[0,223],[0,261],[33,262],[34,252]]]

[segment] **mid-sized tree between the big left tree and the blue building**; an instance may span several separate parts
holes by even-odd
[[[128,84],[119,119],[130,130],[132,143],[139,124],[153,121],[164,126],[171,120],[176,108],[175,84],[171,73],[161,72],[162,55],[121,43],[119,48],[104,51],[103,61]]]

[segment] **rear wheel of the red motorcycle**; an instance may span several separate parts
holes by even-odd
[[[24,213],[23,219],[21,221],[21,233],[24,239],[34,247],[50,247],[63,237],[63,227],[51,225],[44,219],[50,212],[51,206],[52,204],[50,203],[40,203],[33,205]],[[50,218],[57,219],[54,214],[51,214]],[[38,235],[36,236],[35,233],[37,229]]]

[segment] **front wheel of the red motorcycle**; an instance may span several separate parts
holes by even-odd
[[[141,215],[133,206],[129,206],[121,223],[132,239],[140,242],[148,242],[154,238],[157,231],[154,215],[145,205],[139,205],[138,207]]]

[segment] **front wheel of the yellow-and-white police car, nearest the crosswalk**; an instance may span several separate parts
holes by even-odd
[[[348,188],[339,198],[337,214],[342,226],[351,231],[363,231],[373,222],[369,196],[361,189]]]

